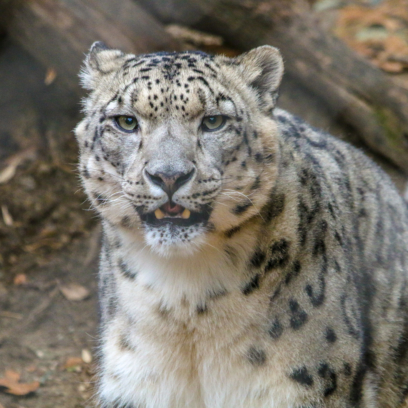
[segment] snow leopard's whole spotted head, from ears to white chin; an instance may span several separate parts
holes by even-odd
[[[274,182],[263,169],[276,167],[281,75],[272,47],[229,59],[135,56],[96,43],[76,135],[83,182],[102,217],[166,254],[257,215]]]

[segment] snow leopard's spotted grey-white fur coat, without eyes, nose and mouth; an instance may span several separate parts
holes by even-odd
[[[76,135],[104,229],[101,407],[402,407],[406,204],[360,151],[275,107],[282,72],[267,46],[92,47]],[[172,199],[207,221],[143,221],[168,200],[146,172],[170,170],[193,174]]]

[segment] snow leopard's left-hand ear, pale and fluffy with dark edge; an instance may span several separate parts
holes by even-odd
[[[82,86],[89,90],[95,89],[101,77],[121,67],[124,56],[122,51],[112,50],[101,41],[94,42],[80,72]]]

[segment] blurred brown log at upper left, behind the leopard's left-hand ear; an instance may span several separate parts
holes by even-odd
[[[179,47],[131,0],[2,0],[0,5],[1,23],[11,39],[78,93],[78,72],[94,41],[136,54]]]

